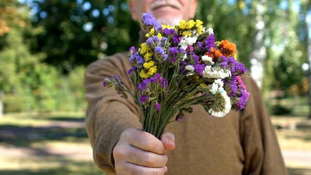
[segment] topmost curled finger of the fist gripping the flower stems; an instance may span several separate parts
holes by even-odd
[[[142,150],[150,151],[159,155],[165,153],[165,147],[161,140],[158,140],[150,133],[132,129],[131,132],[127,132],[126,136],[129,143]]]

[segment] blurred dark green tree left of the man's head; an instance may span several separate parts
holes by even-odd
[[[45,62],[65,73],[117,52],[138,40],[127,0],[44,0],[37,3],[34,24],[46,32],[37,35],[33,52],[44,52]]]

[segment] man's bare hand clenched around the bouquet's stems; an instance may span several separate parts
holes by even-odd
[[[117,175],[164,175],[167,150],[175,148],[173,133],[165,131],[161,140],[138,129],[126,129],[113,149]]]

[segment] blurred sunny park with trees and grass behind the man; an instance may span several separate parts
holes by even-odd
[[[311,0],[199,0],[195,18],[237,45],[289,174],[311,175]],[[1,175],[101,174],[84,71],[137,46],[138,30],[127,0],[0,0]]]

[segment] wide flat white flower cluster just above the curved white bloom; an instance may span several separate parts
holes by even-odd
[[[231,76],[231,71],[221,68],[206,66],[202,72],[204,78],[227,78]]]

